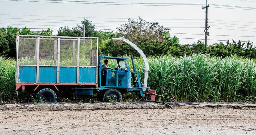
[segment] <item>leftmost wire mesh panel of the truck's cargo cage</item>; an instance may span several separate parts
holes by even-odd
[[[19,65],[36,65],[37,38],[19,38]]]

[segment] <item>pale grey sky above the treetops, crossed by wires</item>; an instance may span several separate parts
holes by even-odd
[[[31,1],[31,0],[30,0]],[[41,0],[34,0],[41,1]],[[130,2],[130,3],[199,3],[205,0],[78,0],[98,2]],[[256,8],[256,0],[208,0],[208,45],[219,43],[214,40],[241,40],[256,42],[256,9],[224,9],[215,8],[212,4],[232,5]],[[143,6],[143,5],[104,5],[74,3],[41,3],[25,1],[0,0],[0,27],[14,26],[17,28],[55,28],[76,26],[87,18],[98,29],[113,29],[124,24],[128,18],[141,18],[146,21],[159,22],[170,28],[171,37],[176,35],[181,44],[192,44],[198,39],[204,41],[205,10],[202,6]],[[8,15],[4,15],[8,14]],[[40,16],[34,16],[40,15]],[[54,16],[54,17],[49,17]],[[17,19],[22,18],[22,19]],[[40,19],[40,20],[38,20]],[[48,20],[46,20],[48,19]],[[68,20],[68,21],[60,21]],[[72,21],[70,21],[72,20]],[[36,22],[26,22],[36,21]],[[109,22],[114,21],[114,22]],[[121,21],[121,22],[117,22]],[[242,22],[236,22],[242,21]],[[25,24],[25,25],[24,25]],[[49,26],[44,26],[49,25]],[[52,26],[50,26],[52,25]],[[185,28],[186,27],[186,28]],[[31,29],[41,31],[42,29]],[[104,30],[107,31],[107,30]],[[108,30],[110,31],[110,30]],[[56,34],[57,32],[53,32]],[[178,34],[183,33],[183,34]],[[186,34],[184,34],[186,33]],[[199,35],[198,35],[199,34]],[[200,35],[202,34],[202,35]],[[215,36],[224,35],[224,36]],[[225,36],[230,35],[230,36]],[[242,37],[255,36],[255,37]],[[184,39],[196,38],[196,39]],[[225,42],[223,41],[223,42]],[[256,43],[254,43],[256,44]]]

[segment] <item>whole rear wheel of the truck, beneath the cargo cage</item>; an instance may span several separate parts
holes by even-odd
[[[36,94],[36,99],[44,102],[57,102],[57,95],[52,89],[42,89]]]

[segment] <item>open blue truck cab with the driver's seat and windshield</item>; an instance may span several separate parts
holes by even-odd
[[[113,66],[112,69],[104,69],[102,66],[104,60],[109,60],[109,64]],[[99,65],[99,91],[107,91],[110,89],[115,89],[121,93],[125,92],[139,92],[140,95],[143,95],[143,89],[148,87],[142,87],[139,79],[139,73],[136,72],[133,57],[131,58],[132,69],[129,68],[127,61],[129,58],[122,57],[110,57],[110,56],[99,56],[98,65]],[[112,67],[113,68],[113,67]],[[114,96],[115,97],[115,96]]]

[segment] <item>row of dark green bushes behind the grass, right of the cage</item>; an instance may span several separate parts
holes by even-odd
[[[154,41],[149,39],[139,39],[137,46],[147,55],[147,56],[158,56],[162,54],[172,54],[174,56],[190,56],[193,54],[209,54],[210,56],[221,56],[222,58],[231,55],[237,55],[247,58],[256,58],[256,48],[253,47],[253,43],[241,43],[241,42],[229,42],[226,44],[218,43],[210,45],[205,49],[203,42],[198,41],[192,45],[185,44],[180,45],[173,43],[169,40],[164,41]],[[125,48],[125,49],[123,49]],[[120,41],[109,40],[107,43],[101,45],[99,51],[103,54],[110,56],[123,56],[123,55],[133,55],[139,56],[139,54],[131,48],[128,44]]]

